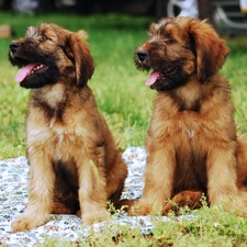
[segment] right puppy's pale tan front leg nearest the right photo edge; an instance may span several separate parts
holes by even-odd
[[[236,186],[237,165],[233,154],[232,144],[228,148],[214,146],[210,150],[206,161],[209,202],[212,205],[228,199],[228,210],[247,213],[247,197],[242,197]],[[234,200],[229,197],[233,197]]]

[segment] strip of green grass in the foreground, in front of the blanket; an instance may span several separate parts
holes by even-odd
[[[205,202],[205,201],[204,201]],[[224,211],[222,205],[204,206],[193,212],[192,217],[184,211],[183,217],[169,215],[169,221],[162,221],[160,216],[149,216],[153,224],[150,232],[141,233],[141,225],[112,224],[116,215],[106,222],[98,233],[93,231],[90,237],[81,237],[77,243],[67,243],[57,238],[49,238],[45,247],[56,246],[90,246],[90,247],[246,247],[247,246],[247,220]]]

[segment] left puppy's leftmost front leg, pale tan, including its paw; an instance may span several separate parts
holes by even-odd
[[[29,231],[49,221],[55,175],[50,159],[42,149],[29,151],[29,203],[24,213],[12,223],[13,232]]]

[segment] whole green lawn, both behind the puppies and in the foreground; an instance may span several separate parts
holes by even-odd
[[[96,60],[96,72],[89,81],[98,105],[106,117],[122,150],[128,146],[143,146],[151,113],[154,91],[144,86],[147,74],[136,70],[133,63],[135,47],[147,38],[151,18],[126,15],[24,15],[0,13],[0,24],[10,24],[14,38],[24,35],[26,26],[53,22],[70,31],[87,30]],[[231,54],[221,74],[233,87],[237,127],[247,132],[247,48],[246,37],[225,37]],[[8,60],[11,40],[0,40],[0,159],[25,155],[25,112],[29,90],[14,82],[18,71]],[[206,206],[197,212],[193,221],[176,224],[156,222],[151,235],[122,228],[112,238],[115,228],[97,235],[82,246],[246,246],[247,218],[226,213],[223,209]],[[171,216],[172,217],[172,216]],[[109,229],[108,229],[109,231]],[[111,232],[112,231],[112,232]],[[110,233],[110,234],[109,234]],[[47,246],[58,246],[47,242]],[[111,244],[110,244],[111,243]],[[59,243],[66,246],[66,243]],[[68,244],[69,246],[69,244]]]

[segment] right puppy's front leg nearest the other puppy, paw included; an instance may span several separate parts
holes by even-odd
[[[147,215],[151,212],[160,214],[172,193],[175,168],[175,148],[169,143],[149,151],[143,197],[128,209],[128,214]]]

